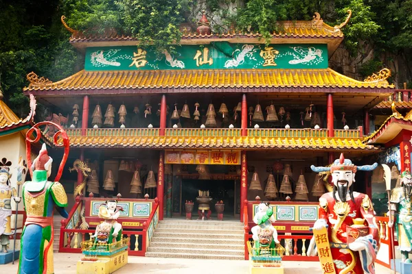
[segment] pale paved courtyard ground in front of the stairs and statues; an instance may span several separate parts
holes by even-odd
[[[76,263],[82,254],[54,253],[54,273],[76,273]],[[0,266],[0,273],[16,273],[16,264]],[[285,274],[321,274],[319,262],[284,262]],[[249,273],[248,261],[236,260],[193,260],[173,258],[129,257],[129,262],[115,274],[126,273],[179,273],[179,274],[217,274],[217,273]],[[376,265],[377,274],[393,273],[389,269]]]

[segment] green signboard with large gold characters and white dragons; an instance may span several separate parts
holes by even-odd
[[[166,69],[327,69],[328,46],[252,45],[214,42],[183,45],[176,53],[158,53],[153,47],[89,47],[87,71]]]

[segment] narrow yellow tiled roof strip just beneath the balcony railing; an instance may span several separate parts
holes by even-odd
[[[362,140],[359,138],[70,136],[69,139],[70,147],[139,147],[163,149],[378,149],[378,147],[374,147],[373,145],[363,144]]]

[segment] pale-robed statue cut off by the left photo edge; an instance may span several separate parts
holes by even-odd
[[[1,252],[7,253],[7,246],[10,243],[9,236],[13,235],[10,216],[12,216],[12,198],[16,203],[20,203],[16,188],[10,186],[10,169],[8,166],[0,168],[0,244]]]

